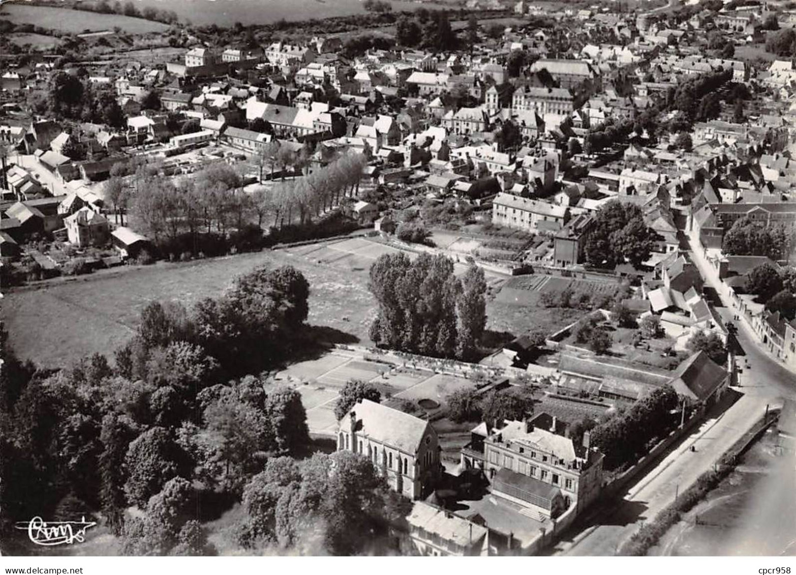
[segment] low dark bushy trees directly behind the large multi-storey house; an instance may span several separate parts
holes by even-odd
[[[457,423],[486,421],[497,427],[505,420],[522,420],[533,414],[533,394],[516,387],[486,394],[478,393],[473,387],[457,389],[445,401],[448,417]]]

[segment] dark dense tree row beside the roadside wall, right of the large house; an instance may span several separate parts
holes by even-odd
[[[604,467],[616,469],[633,464],[648,453],[655,441],[669,433],[680,421],[679,413],[672,413],[680,405],[671,385],[654,389],[636,401],[630,409],[608,416],[598,424],[587,422],[591,428],[591,446],[605,455]]]

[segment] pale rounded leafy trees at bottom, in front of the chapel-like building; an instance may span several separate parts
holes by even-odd
[[[267,462],[244,488],[236,539],[247,549],[291,548],[318,555],[384,554],[388,526],[412,503],[389,489],[366,456],[316,453]]]

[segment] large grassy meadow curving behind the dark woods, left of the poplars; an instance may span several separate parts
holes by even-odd
[[[292,264],[305,274],[311,286],[310,324],[334,327],[367,341],[375,311],[362,278],[279,251],[117,268],[76,281],[41,284],[7,293],[0,318],[21,358],[41,366],[62,366],[94,352],[112,354],[131,337],[140,311],[150,301],[190,304],[217,296],[236,276],[263,264]]]

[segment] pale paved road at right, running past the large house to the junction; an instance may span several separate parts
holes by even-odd
[[[717,310],[724,318],[732,320],[735,313],[732,301],[718,274],[701,252],[691,252],[691,255],[706,284],[716,290],[724,303],[724,307]],[[592,517],[587,516],[584,522],[586,527],[562,539],[553,553],[614,555],[644,521],[654,518],[673,501],[678,491],[688,488],[699,475],[710,469],[765,413],[767,406],[781,405],[782,397],[796,397],[796,374],[763,348],[746,322],[735,323],[739,325],[736,339],[742,349],[739,365],[744,366],[738,377],[739,386],[733,390],[736,396],[740,395],[738,401],[723,412],[715,409],[700,428],[631,487],[610,511],[591,511]],[[695,452],[690,451],[691,446]]]

